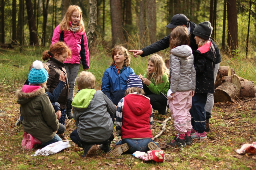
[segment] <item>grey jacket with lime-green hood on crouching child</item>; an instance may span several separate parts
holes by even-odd
[[[79,96],[79,93],[81,93],[82,97]],[[75,96],[79,97],[79,101],[83,97],[86,100],[89,98],[89,105],[86,108],[81,108],[81,106],[75,107],[74,103],[72,103],[79,137],[85,142],[108,140],[114,128],[110,115],[116,113],[115,105],[101,90],[97,90],[93,97],[92,95],[85,95],[82,91],[79,93]],[[74,101],[76,101],[75,98]]]

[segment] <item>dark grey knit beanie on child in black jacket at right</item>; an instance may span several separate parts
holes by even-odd
[[[213,30],[213,28],[211,26],[211,23],[209,21],[205,21],[205,22],[199,23],[195,27],[193,34],[197,35],[205,40],[210,40],[212,30]]]

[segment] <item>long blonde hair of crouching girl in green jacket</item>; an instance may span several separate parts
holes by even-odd
[[[166,73],[169,76],[169,70],[165,66],[165,62],[162,58],[162,56],[159,56],[158,54],[153,54],[148,61],[151,61],[154,64],[154,72],[153,73],[148,73],[147,70],[147,79],[152,82],[152,79],[154,78],[155,85],[161,84],[162,83],[162,78],[164,73]]]

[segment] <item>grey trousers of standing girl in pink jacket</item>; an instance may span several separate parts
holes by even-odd
[[[75,90],[75,82],[77,79],[77,74],[79,71],[79,65],[80,64],[70,64],[70,63],[64,63],[65,69],[68,76],[68,85],[69,85],[69,94],[68,99],[73,100],[74,96],[74,90]]]

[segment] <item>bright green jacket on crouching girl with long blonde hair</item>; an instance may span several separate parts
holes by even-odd
[[[147,72],[145,72],[143,77],[147,78]],[[168,75],[166,73],[164,73],[164,75],[162,77],[162,83],[160,83],[160,84],[156,83],[156,85],[155,85],[154,78],[153,78],[150,85],[149,86],[147,85],[147,87],[154,94],[159,95],[162,92],[163,94],[167,95],[167,92],[170,89]]]

